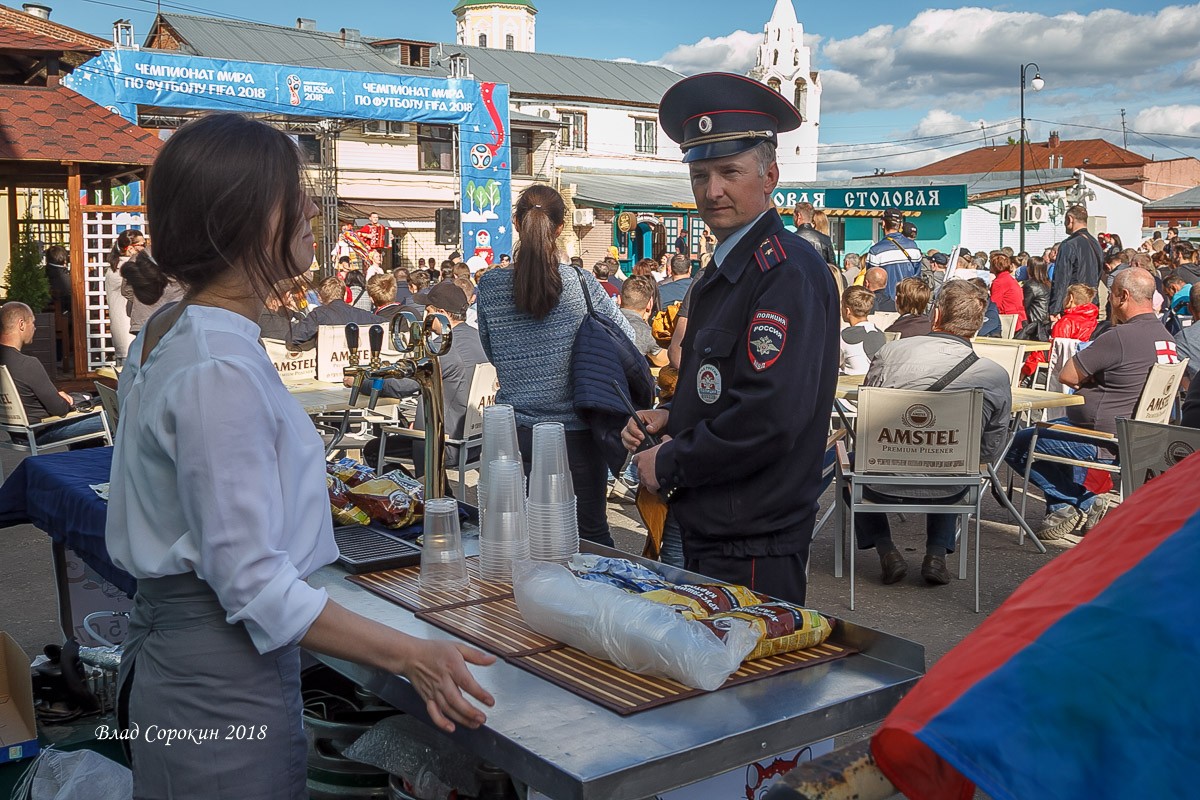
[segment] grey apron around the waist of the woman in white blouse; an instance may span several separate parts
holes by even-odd
[[[138,582],[119,682],[134,800],[308,796],[299,648],[259,655],[194,573]]]

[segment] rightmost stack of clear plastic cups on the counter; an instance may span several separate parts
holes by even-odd
[[[580,552],[575,516],[575,485],[566,463],[566,432],[562,422],[533,428],[533,473],[529,475],[529,557],[565,564]]]

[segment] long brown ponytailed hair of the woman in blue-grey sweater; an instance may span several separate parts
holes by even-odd
[[[563,294],[556,233],[566,218],[566,205],[562,194],[539,184],[521,193],[512,216],[521,236],[512,254],[512,297],[517,311],[542,319]]]

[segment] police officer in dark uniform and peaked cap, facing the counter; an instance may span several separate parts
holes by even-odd
[[[838,378],[838,295],[824,260],[772,203],[776,134],[802,122],[767,86],[726,73],[680,80],[659,120],[716,235],[692,289],[670,409],[640,411],[664,441],[635,457],[665,489],[688,569],[803,603]],[[623,434],[642,445],[632,420]]]

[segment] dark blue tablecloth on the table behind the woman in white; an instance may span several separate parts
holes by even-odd
[[[92,483],[108,482],[112,468],[112,447],[25,458],[0,486],[0,527],[31,524],[44,530],[132,597],[137,581],[112,563],[104,547],[108,504],[91,489]]]

